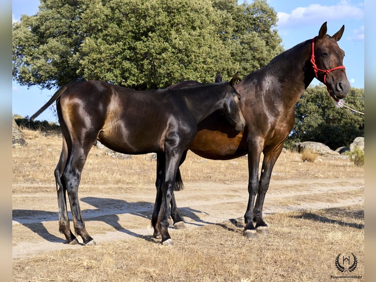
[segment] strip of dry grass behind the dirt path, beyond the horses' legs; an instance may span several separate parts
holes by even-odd
[[[54,189],[54,169],[61,151],[61,138],[30,130],[24,130],[24,133],[29,145],[13,149],[13,192],[35,192],[33,186]],[[139,189],[145,184],[154,184],[155,170],[156,161],[148,155],[121,160],[105,155],[104,150],[94,146],[82,171],[80,191],[89,189],[90,185],[103,186],[104,193],[111,186],[119,186],[119,193]],[[248,161],[246,156],[230,161],[208,160],[188,151],[181,172],[185,182],[247,181]],[[314,163],[304,163],[299,153],[290,151],[281,153],[272,172],[272,180],[362,177],[364,168],[356,167],[346,156],[321,156]],[[27,187],[22,183],[27,183]]]

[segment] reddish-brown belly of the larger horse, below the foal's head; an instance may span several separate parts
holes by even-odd
[[[195,154],[213,160],[230,160],[247,153],[247,144],[242,132],[229,136],[220,131],[200,130],[189,149]]]

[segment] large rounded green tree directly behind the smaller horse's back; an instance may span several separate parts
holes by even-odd
[[[214,36],[216,10],[210,1],[119,2],[124,1],[106,6],[99,1],[82,14],[85,33],[91,34],[82,43],[86,79],[161,88],[187,79],[213,81],[216,71],[231,65],[230,51]],[[95,21],[93,13],[100,15]]]

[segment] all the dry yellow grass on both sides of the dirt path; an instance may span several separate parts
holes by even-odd
[[[13,195],[53,191],[61,138],[29,130],[24,133],[28,146],[13,149]],[[82,172],[80,193],[92,191],[92,186],[100,187],[101,193],[111,194],[151,187],[155,169],[156,162],[147,155],[119,160],[93,147]],[[189,152],[181,170],[185,182],[231,184],[248,179],[246,157],[213,161]],[[346,158],[320,156],[313,163],[304,163],[300,154],[287,151],[277,161],[270,185],[273,180],[314,183],[320,179],[346,181],[363,177],[364,168]],[[288,191],[290,185],[273,188],[283,192]],[[304,191],[305,188],[299,189]],[[363,192],[350,193],[358,196]],[[341,193],[323,197],[323,200],[330,203],[334,197],[341,197]],[[14,197],[13,202],[17,200],[21,199]],[[302,200],[310,198],[297,195],[281,204]],[[144,236],[95,248],[13,259],[13,281],[321,282],[336,280],[331,276],[341,275],[362,276],[351,281],[364,281],[363,205],[276,213],[266,215],[265,219],[271,234],[252,241],[242,236],[243,223],[239,219],[237,224],[226,221],[199,228],[171,229],[173,247],[161,246],[159,240]],[[355,271],[341,273],[336,269],[335,258],[340,253],[356,255]]]

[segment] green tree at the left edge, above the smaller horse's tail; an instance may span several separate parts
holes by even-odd
[[[34,16],[23,15],[13,25],[13,79],[48,89],[81,80],[80,14],[79,1],[41,0]]]

